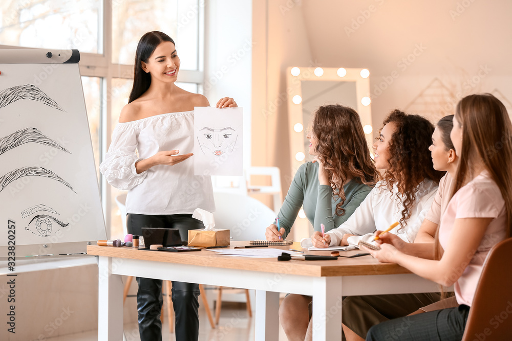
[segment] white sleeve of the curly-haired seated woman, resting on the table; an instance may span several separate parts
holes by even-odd
[[[375,185],[375,188],[368,194],[368,196],[361,202],[359,207],[343,224],[339,225],[337,229],[332,229],[327,232],[331,237],[329,246],[337,246],[342,242],[343,235],[348,233],[351,235],[362,236],[367,233],[372,233],[377,230],[375,226],[375,217],[373,212],[373,201],[375,194],[382,189],[378,188],[380,183]]]

